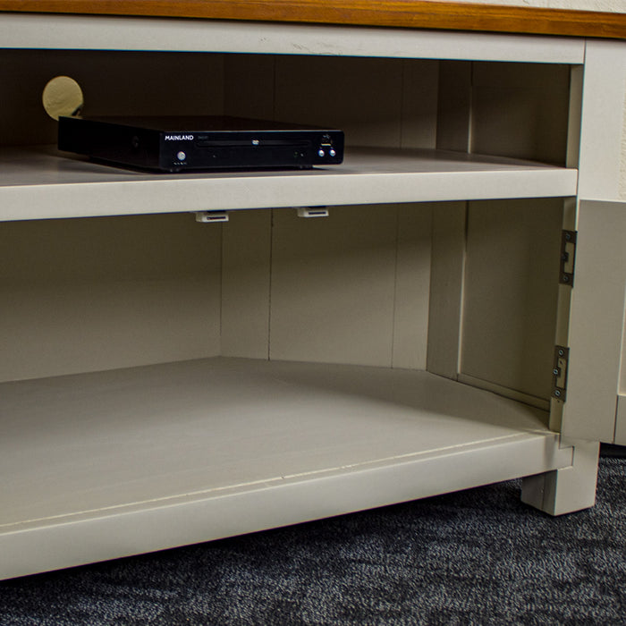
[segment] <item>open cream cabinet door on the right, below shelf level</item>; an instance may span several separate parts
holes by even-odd
[[[626,202],[580,202],[564,436],[626,444],[625,239]]]

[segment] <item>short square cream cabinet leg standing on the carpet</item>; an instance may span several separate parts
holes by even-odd
[[[563,515],[593,506],[596,503],[599,451],[597,442],[574,444],[571,467],[522,480],[521,501],[550,515]]]

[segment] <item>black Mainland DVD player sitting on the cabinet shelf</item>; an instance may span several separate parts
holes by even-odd
[[[309,169],[343,161],[343,131],[226,116],[61,117],[58,146],[162,172]]]

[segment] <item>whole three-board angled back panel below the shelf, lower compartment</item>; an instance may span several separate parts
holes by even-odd
[[[426,368],[433,205],[329,210],[231,214],[222,354]]]

